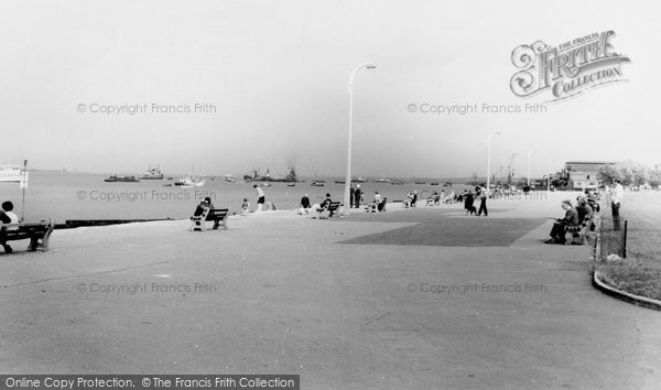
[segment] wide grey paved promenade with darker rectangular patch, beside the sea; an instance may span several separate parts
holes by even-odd
[[[542,243],[570,196],[490,202],[487,218],[392,206],[57,230],[51,252],[0,256],[0,371],[654,388],[661,313],[593,289],[589,246]]]

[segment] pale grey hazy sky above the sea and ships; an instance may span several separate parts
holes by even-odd
[[[524,174],[531,151],[535,176],[565,161],[653,166],[659,17],[653,1],[2,1],[0,163],[342,176],[347,80],[371,62],[354,84],[355,175],[484,176],[491,132],[499,175],[512,154]],[[510,89],[514,47],[609,30],[626,82],[560,101]],[[525,104],[545,112],[483,111]],[[453,105],[480,110],[422,112]]]

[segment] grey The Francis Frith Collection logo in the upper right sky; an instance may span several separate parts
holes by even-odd
[[[519,69],[510,80],[514,95],[549,91],[550,100],[565,99],[590,88],[626,80],[622,64],[629,57],[615,52],[614,31],[593,33],[551,47],[542,41],[512,51]]]

